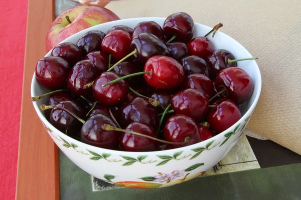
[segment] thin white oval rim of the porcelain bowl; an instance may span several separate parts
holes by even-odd
[[[74,37],[74,36],[76,36],[76,35],[83,35],[83,34],[86,33],[87,31],[95,30],[95,27],[100,27],[100,28],[101,28],[101,26],[103,26],[104,24],[110,24],[110,23],[112,23],[112,24],[115,25],[116,22],[120,22],[120,23],[118,23],[118,24],[122,25],[122,22],[124,22],[124,21],[136,21],[136,20],[141,20],[141,21],[152,21],[152,20],[155,20],[155,21],[156,21],[156,19],[157,19],[157,20],[163,20],[163,21],[164,21],[164,20],[166,19],[166,17],[133,17],[133,18],[126,18],[126,19],[119,19],[119,20],[109,21],[109,22],[101,23],[101,24],[98,24],[98,25],[95,25],[95,26],[86,28],[86,29],[84,29],[84,30],[81,30],[81,31],[79,31],[79,32],[77,32],[77,33],[75,33],[75,34],[69,36],[68,38],[64,39],[64,40],[61,41],[60,43],[67,42],[71,37]],[[212,27],[207,26],[207,25],[204,25],[204,24],[201,24],[201,23],[198,23],[198,22],[194,22],[194,24],[195,24],[195,25],[198,24],[198,25],[201,25],[201,26],[206,27],[206,28],[208,28],[208,29],[212,29]],[[98,28],[98,29],[100,29],[100,28]],[[240,46],[241,48],[243,48],[243,49],[246,50],[246,53],[248,54],[249,57],[253,57],[253,56],[251,55],[251,53],[250,53],[250,52],[249,52],[242,44],[240,44],[238,41],[236,41],[234,38],[232,38],[231,36],[229,36],[229,35],[223,33],[222,31],[219,31],[219,34],[222,34],[223,37],[226,37],[227,39],[233,40],[233,42],[236,43],[236,45],[238,45],[238,46]],[[51,55],[51,51],[52,51],[52,49],[51,49],[49,52],[47,52],[47,54],[46,54],[44,57],[46,57],[46,56],[48,56],[48,55]],[[203,144],[203,145],[206,145],[209,141],[212,141],[212,140],[215,140],[215,139],[217,139],[217,138],[219,138],[219,137],[222,137],[226,132],[229,131],[229,129],[232,129],[233,127],[236,127],[239,123],[241,123],[242,121],[244,121],[244,120],[247,118],[247,116],[250,116],[250,115],[252,114],[252,112],[254,111],[254,109],[255,109],[255,107],[256,107],[256,104],[257,104],[257,102],[258,102],[259,96],[260,96],[261,86],[262,86],[262,79],[261,79],[261,73],[260,73],[260,69],[259,69],[259,67],[258,67],[257,62],[256,62],[255,60],[251,60],[251,61],[254,62],[254,67],[255,67],[254,70],[256,70],[256,74],[258,73],[258,80],[256,80],[256,81],[257,81],[257,84],[258,84],[258,89],[255,91],[255,87],[254,87],[253,92],[256,92],[256,95],[255,95],[254,101],[252,102],[252,104],[250,105],[250,107],[248,108],[248,110],[245,112],[245,114],[244,114],[238,121],[236,121],[232,126],[230,126],[229,128],[227,128],[227,129],[224,130],[223,132],[221,132],[221,133],[215,135],[214,137],[211,137],[211,138],[209,138],[209,139],[206,139],[206,140],[204,140],[204,141],[201,141],[201,142],[198,142],[198,143],[195,143],[195,144],[191,144],[191,145],[183,146],[183,147],[179,147],[179,148],[172,148],[172,149],[158,150],[158,151],[122,151],[122,150],[113,150],[113,149],[107,149],[107,148],[102,148],[102,147],[97,147],[97,146],[93,146],[93,145],[90,145],[90,144],[86,144],[86,143],[84,143],[84,142],[82,142],[82,141],[76,140],[76,139],[74,139],[74,138],[72,138],[72,137],[70,137],[70,136],[64,134],[63,132],[61,132],[60,130],[58,130],[56,127],[54,127],[54,126],[46,119],[46,117],[43,115],[42,111],[40,110],[40,108],[39,108],[39,106],[38,106],[38,102],[37,102],[37,101],[33,101],[33,105],[34,105],[34,108],[35,108],[35,110],[36,110],[36,112],[37,112],[39,118],[42,120],[43,123],[45,123],[45,125],[46,125],[47,127],[51,127],[51,129],[55,129],[55,130],[56,130],[56,133],[57,133],[58,136],[60,136],[60,137],[61,137],[61,136],[62,136],[63,138],[64,138],[64,137],[68,137],[68,139],[69,139],[70,142],[73,142],[73,143],[80,143],[80,146],[81,146],[81,147],[84,147],[85,149],[91,149],[91,150],[92,150],[92,149],[95,149],[95,150],[97,149],[96,151],[102,151],[102,152],[103,152],[103,151],[106,151],[106,152],[107,152],[107,151],[110,151],[111,154],[120,154],[120,153],[122,153],[122,155],[130,155],[130,156],[134,156],[134,154],[139,154],[139,155],[140,155],[140,154],[142,154],[142,153],[144,153],[144,154],[147,153],[147,154],[149,154],[149,155],[153,155],[153,154],[155,155],[155,154],[158,154],[158,153],[160,153],[160,154],[162,154],[162,153],[172,153],[172,152],[174,152],[175,150],[176,150],[176,151],[181,151],[181,150],[186,151],[186,150],[190,150],[190,149],[195,148],[195,147],[199,147],[199,146],[202,145],[202,144]],[[34,72],[33,78],[32,78],[32,81],[31,81],[31,96],[35,96],[35,95],[36,95],[36,94],[35,94],[35,86],[36,86],[37,84],[35,84],[35,83],[38,83],[38,82],[37,82],[37,80],[36,80],[36,78],[35,78],[35,74],[36,74],[36,72]],[[257,75],[256,75],[256,76],[257,76]],[[53,138],[52,138],[52,139],[53,139]]]

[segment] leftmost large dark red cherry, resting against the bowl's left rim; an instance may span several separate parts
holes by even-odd
[[[48,89],[62,89],[66,85],[66,77],[70,70],[68,62],[61,57],[43,57],[36,65],[36,78]]]

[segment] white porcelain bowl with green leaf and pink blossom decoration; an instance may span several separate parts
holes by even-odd
[[[156,21],[163,25],[165,18],[146,17],[129,18],[99,24],[82,30],[63,42],[77,43],[87,31],[101,30],[106,32],[113,25],[134,27],[141,21]],[[205,35],[211,27],[195,23],[194,37]],[[230,36],[218,31],[212,40],[215,49],[227,49],[236,58],[252,57],[252,55]],[[50,56],[48,52],[46,56]],[[109,150],[91,146],[77,141],[56,129],[39,109],[45,98],[33,102],[36,112],[49,135],[58,147],[81,169],[104,181],[134,188],[157,188],[173,185],[192,179],[213,167],[236,143],[245,129],[257,104],[261,90],[261,75],[255,60],[238,62],[238,67],[244,69],[255,84],[251,98],[240,106],[242,118],[222,133],[190,146],[176,149],[152,152],[126,152]],[[31,95],[41,95],[48,92],[41,86],[35,75],[31,84]]]

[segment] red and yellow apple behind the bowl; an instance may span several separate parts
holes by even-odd
[[[71,23],[66,19],[69,16]],[[46,50],[50,51],[67,37],[91,26],[120,19],[111,10],[94,5],[78,5],[62,12],[50,26],[46,36]]]

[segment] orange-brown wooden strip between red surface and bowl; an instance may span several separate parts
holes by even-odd
[[[60,198],[58,147],[38,118],[30,93],[37,60],[46,54],[54,9],[54,0],[29,0],[16,199]]]

